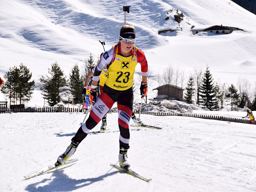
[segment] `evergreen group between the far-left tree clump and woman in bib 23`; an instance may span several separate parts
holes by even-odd
[[[84,71],[83,75],[80,75],[80,69],[78,65],[75,64],[72,68],[71,74],[69,74],[69,80],[66,81],[66,76],[63,73],[63,70],[60,69],[60,66],[57,62],[52,64],[51,68],[48,68],[48,73],[50,76],[42,76],[40,78],[40,90],[42,91],[43,98],[49,103],[50,106],[54,106],[57,103],[64,101],[68,103],[73,99],[74,104],[82,103],[81,91],[84,84],[84,79],[96,66],[99,59],[95,62],[92,54],[90,54],[88,60],[84,62]],[[68,100],[65,100],[65,96],[71,93],[72,98],[68,97]]]

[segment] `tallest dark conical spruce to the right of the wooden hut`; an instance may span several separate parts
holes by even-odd
[[[210,73],[209,67],[206,67],[199,93],[201,98],[200,103],[203,107],[212,110],[215,105],[215,95],[212,74]]]

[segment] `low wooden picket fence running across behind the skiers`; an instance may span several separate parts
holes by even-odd
[[[0,108],[0,113],[17,113],[17,112],[79,112],[79,108],[64,108],[64,107],[49,107],[49,108],[26,108],[26,109],[10,109],[10,108]],[[117,109],[110,109],[109,112],[115,113]],[[134,113],[139,113],[138,111],[134,111]],[[185,117],[196,117],[202,119],[213,119],[219,121],[227,121],[236,122],[236,123],[247,123],[249,124],[250,120],[247,119],[238,119],[238,118],[231,118],[231,117],[224,117],[224,116],[211,116],[211,115],[198,115],[198,114],[187,114],[187,113],[166,113],[166,112],[151,112],[151,111],[141,111],[141,114],[146,115],[154,115],[154,116],[185,116]],[[256,124],[256,121],[253,122]]]

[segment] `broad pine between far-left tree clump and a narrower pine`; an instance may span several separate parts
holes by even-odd
[[[52,64],[52,68],[48,68],[48,73],[50,77],[42,76],[40,78],[40,90],[43,91],[41,94],[48,101],[49,105],[54,106],[62,100],[61,96],[67,91],[66,76],[57,62]]]

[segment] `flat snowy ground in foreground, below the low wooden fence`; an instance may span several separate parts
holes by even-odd
[[[244,112],[236,112],[237,116]],[[3,118],[3,119],[2,119]],[[54,163],[84,115],[1,114],[1,191],[14,192],[252,192],[256,188],[255,125],[181,116],[141,115],[163,129],[130,127],[131,168],[146,182],[112,168],[118,163],[117,113],[109,132],[88,136],[71,158],[79,160],[35,178],[23,176]],[[15,121],[13,121],[15,119]],[[134,124],[132,121],[130,124]],[[97,125],[93,131],[99,130]]]

